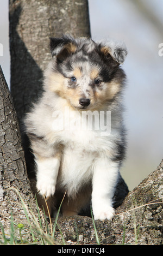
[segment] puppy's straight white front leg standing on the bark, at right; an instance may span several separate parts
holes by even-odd
[[[95,219],[112,219],[112,197],[118,177],[118,164],[106,157],[97,160],[92,180],[92,209]]]

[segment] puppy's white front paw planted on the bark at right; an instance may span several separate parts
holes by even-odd
[[[95,219],[100,219],[101,221],[108,219],[111,221],[115,215],[115,210],[111,206],[105,206],[103,208],[99,207],[98,209],[93,210],[93,215]]]

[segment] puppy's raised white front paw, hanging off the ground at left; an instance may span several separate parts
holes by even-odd
[[[37,191],[47,199],[55,193],[55,184],[50,180],[37,180],[36,188]]]

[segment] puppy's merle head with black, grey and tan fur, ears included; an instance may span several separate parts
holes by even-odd
[[[69,36],[50,40],[53,59],[46,73],[47,90],[78,110],[103,109],[114,100],[125,79],[120,64],[126,46]]]

